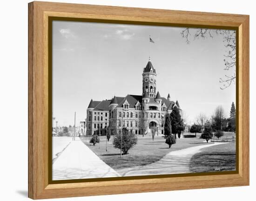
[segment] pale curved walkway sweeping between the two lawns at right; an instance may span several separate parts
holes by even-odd
[[[200,152],[200,149],[219,145],[224,143],[205,144],[187,149],[180,149],[169,152],[161,160],[145,166],[137,166],[128,169],[118,170],[121,176],[138,176],[138,175],[168,175],[189,173],[189,163],[191,157]]]

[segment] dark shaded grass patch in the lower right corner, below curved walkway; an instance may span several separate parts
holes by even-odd
[[[190,160],[190,171],[192,172],[229,170],[236,170],[236,143],[204,148]]]

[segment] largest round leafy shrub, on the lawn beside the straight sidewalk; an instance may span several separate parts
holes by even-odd
[[[121,143],[122,140],[122,143]],[[117,133],[113,139],[113,145],[116,149],[121,149],[123,154],[128,154],[128,150],[133,148],[137,144],[137,136],[132,132],[129,132],[126,128],[123,128],[122,135]],[[122,146],[121,146],[122,145]]]

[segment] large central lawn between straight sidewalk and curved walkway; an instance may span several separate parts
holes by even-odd
[[[154,142],[150,136],[138,136],[138,143],[135,147],[130,149],[127,155],[122,155],[121,158],[120,149],[115,149],[112,144],[114,136],[111,136],[108,142],[108,152],[106,152],[106,136],[101,136],[100,149],[99,144],[93,146],[89,143],[90,137],[82,136],[80,138],[101,160],[113,169],[118,170],[156,162],[170,151],[206,144],[206,141],[200,139],[199,136],[196,138],[177,138],[176,144],[173,144],[170,149],[168,149],[168,144],[165,143],[162,136],[155,136]]]

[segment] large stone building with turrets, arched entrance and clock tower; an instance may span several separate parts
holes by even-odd
[[[111,134],[119,132],[122,127],[135,134],[147,135],[151,129],[157,134],[164,134],[165,117],[174,107],[182,113],[178,101],[161,97],[156,90],[156,71],[150,59],[142,73],[142,95],[113,97],[111,100],[93,101],[87,109],[86,135],[106,134],[108,128]]]

